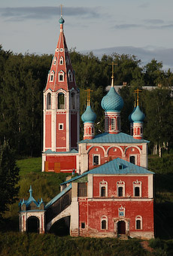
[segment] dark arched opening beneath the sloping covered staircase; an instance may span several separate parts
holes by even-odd
[[[68,236],[70,233],[70,216],[61,218],[50,227],[50,233],[56,236]]]

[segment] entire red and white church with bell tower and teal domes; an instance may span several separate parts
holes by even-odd
[[[38,219],[38,232],[49,232],[62,218],[71,236],[150,239],[154,236],[153,172],[147,170],[144,113],[138,104],[129,115],[130,135],[121,132],[123,99],[114,89],[102,98],[105,133],[95,136],[96,113],[88,90],[80,141],[80,91],[65,41],[65,20],[44,90],[42,172],[70,172],[61,192],[49,203],[32,197],[20,201],[20,231],[29,218]],[[76,175],[74,175],[76,174]]]

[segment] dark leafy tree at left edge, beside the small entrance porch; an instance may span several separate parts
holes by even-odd
[[[5,211],[9,211],[9,205],[15,203],[19,192],[19,168],[16,166],[14,151],[8,142],[0,147],[0,218]]]

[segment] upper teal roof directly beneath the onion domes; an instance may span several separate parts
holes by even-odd
[[[80,143],[149,143],[145,139],[134,139],[133,136],[126,133],[102,133],[95,136],[94,139],[84,139]]]

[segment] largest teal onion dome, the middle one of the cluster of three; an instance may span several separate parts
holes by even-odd
[[[114,87],[111,87],[109,92],[103,97],[101,105],[105,111],[120,111],[123,108],[124,102]]]

